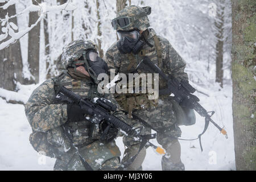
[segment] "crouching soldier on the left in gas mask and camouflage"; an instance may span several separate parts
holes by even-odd
[[[57,94],[58,88],[65,86],[91,101],[102,97],[97,92],[97,76],[106,73],[108,65],[96,50],[90,41],[69,43],[61,56],[67,71],[44,81],[25,105],[32,127],[30,143],[36,151],[56,158],[54,170],[114,170],[121,166],[121,152],[114,141],[117,130],[110,131],[112,140],[102,142],[104,126],[90,122],[90,116],[79,105],[60,99]]]

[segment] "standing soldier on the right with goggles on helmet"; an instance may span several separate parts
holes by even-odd
[[[185,61],[167,39],[157,36],[154,29],[149,28],[147,15],[150,13],[149,6],[129,6],[119,11],[117,18],[112,20],[119,40],[106,52],[105,60],[110,71],[115,69],[115,73],[133,73],[143,57],[147,56],[164,73],[178,78],[179,81],[188,80],[187,73],[184,72]],[[165,87],[166,84],[159,78],[159,89]],[[184,114],[183,109],[168,95],[159,96],[158,100],[152,101],[148,100],[148,94],[115,94],[115,99],[130,117],[133,113],[158,131],[158,143],[171,155],[170,158],[162,158],[162,169],[184,170],[180,159],[180,143],[176,139],[181,135],[177,114]],[[181,112],[177,112],[178,110]],[[151,130],[145,132],[151,133]],[[127,146],[123,160],[128,160],[137,154],[139,144],[131,142],[129,137],[124,137],[123,142]],[[143,148],[129,169],[142,169],[145,156],[146,148]]]

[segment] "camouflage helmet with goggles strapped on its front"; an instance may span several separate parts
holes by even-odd
[[[128,6],[119,11],[117,18],[112,20],[112,26],[115,30],[129,31],[138,29],[145,31],[150,27],[150,21],[147,15],[150,15],[151,7]]]

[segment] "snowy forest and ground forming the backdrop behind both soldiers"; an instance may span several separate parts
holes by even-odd
[[[23,104],[46,78],[59,75],[62,48],[72,40],[93,40],[104,56],[117,40],[111,19],[120,5],[151,6],[152,13],[148,16],[151,27],[167,38],[187,62],[185,71],[197,90],[200,104],[208,111],[216,111],[213,120],[228,131],[229,138],[225,139],[210,124],[202,137],[203,152],[198,140],[181,140],[185,169],[236,169],[231,1],[0,0],[1,170],[53,169],[55,159],[37,154],[30,146],[31,127]],[[198,114],[196,117],[196,125],[181,126],[181,138],[196,138],[203,131],[204,118]],[[123,152],[121,138],[117,143]],[[161,170],[160,156],[151,148],[147,149],[143,169]]]

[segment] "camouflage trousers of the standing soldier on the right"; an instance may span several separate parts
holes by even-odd
[[[172,104],[168,101],[168,98],[164,101],[159,101],[159,105],[154,109],[147,110],[135,110],[133,114],[143,119],[150,124],[154,129],[158,130],[156,134],[156,140],[162,147],[170,154],[170,158],[162,158],[163,170],[184,170],[184,164],[180,160],[180,143],[177,141],[177,137],[180,137],[181,130],[176,126],[176,116],[172,110]],[[134,125],[138,125],[138,121],[133,120]],[[141,134],[151,134],[151,129],[144,128]],[[128,160],[139,150],[139,142],[134,141],[132,137],[123,137],[123,143],[127,147],[125,150],[125,156],[122,162]],[[144,148],[131,166],[127,169],[138,170],[141,168],[141,164],[146,156],[146,149]]]

